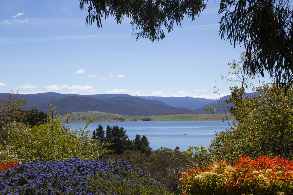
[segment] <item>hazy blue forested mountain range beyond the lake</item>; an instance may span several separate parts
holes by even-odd
[[[6,94],[0,94],[0,98],[5,99]],[[251,93],[247,94],[252,96]],[[229,96],[222,97],[225,109],[233,106],[231,103],[224,103]],[[24,109],[29,106],[37,106],[39,111],[47,112],[51,101],[59,106],[58,113],[71,113],[82,111],[100,111],[115,113],[120,115],[174,115],[192,113],[211,113],[204,108],[215,104],[214,107],[222,108],[219,100],[193,98],[193,97],[159,97],[159,96],[131,96],[128,94],[59,94],[54,92],[38,94],[21,94],[20,99],[27,101]],[[217,109],[218,113],[223,113],[222,109]],[[227,109],[226,109],[226,112]],[[228,112],[229,113],[229,112]]]

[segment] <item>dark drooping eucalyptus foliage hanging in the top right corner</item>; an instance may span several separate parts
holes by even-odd
[[[292,0],[222,0],[219,14],[222,39],[246,48],[244,67],[278,86],[293,83]]]

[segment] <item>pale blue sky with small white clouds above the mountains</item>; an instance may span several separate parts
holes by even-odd
[[[184,18],[181,28],[151,42],[132,36],[128,18],[86,26],[78,0],[1,0],[0,93],[217,99],[217,84],[228,95],[231,83],[221,75],[243,48],[221,39],[218,9],[219,1],[208,1],[199,18]]]

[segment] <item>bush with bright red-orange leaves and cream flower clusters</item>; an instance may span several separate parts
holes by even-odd
[[[238,157],[206,168],[191,168],[180,182],[185,194],[292,194],[293,162],[285,158]]]

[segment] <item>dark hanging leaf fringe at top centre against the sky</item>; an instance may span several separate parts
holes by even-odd
[[[102,27],[101,18],[115,17],[117,23],[130,18],[136,39],[147,38],[161,41],[164,37],[164,25],[168,32],[173,30],[175,22],[181,27],[184,16],[195,19],[206,8],[204,0],[79,0],[81,10],[87,9],[86,25],[96,21]],[[138,30],[139,32],[135,32]]]

